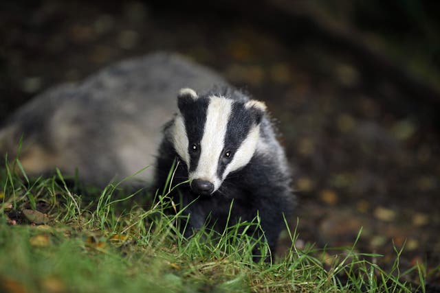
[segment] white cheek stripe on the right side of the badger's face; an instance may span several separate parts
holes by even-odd
[[[230,172],[240,169],[249,163],[250,159],[252,159],[252,156],[254,156],[256,145],[259,141],[259,136],[260,126],[252,127],[248,137],[245,138],[243,143],[241,143],[240,148],[235,152],[231,163],[226,166],[225,172],[223,172],[222,180],[224,180]]]

